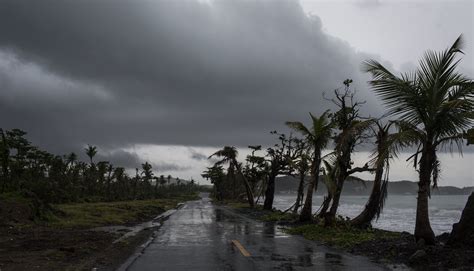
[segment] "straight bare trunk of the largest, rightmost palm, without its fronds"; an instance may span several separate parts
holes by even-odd
[[[435,243],[435,235],[430,225],[428,212],[428,197],[430,193],[431,174],[435,160],[435,149],[426,143],[420,158],[420,173],[418,182],[418,198],[416,205],[415,240],[423,239],[426,244]]]

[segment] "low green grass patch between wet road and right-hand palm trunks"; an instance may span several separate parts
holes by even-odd
[[[300,234],[309,240],[344,249],[375,239],[395,239],[400,237],[400,234],[396,232],[358,229],[347,225],[325,227],[321,224],[306,224],[286,229],[286,231],[291,234]]]

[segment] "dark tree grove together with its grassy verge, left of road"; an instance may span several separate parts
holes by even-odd
[[[84,151],[89,163],[75,153],[60,156],[41,150],[19,129],[0,129],[0,220],[74,227],[122,224],[175,206],[180,197],[192,198],[201,190],[193,180],[155,176],[148,162],[132,177],[123,167],[95,162],[96,146]]]

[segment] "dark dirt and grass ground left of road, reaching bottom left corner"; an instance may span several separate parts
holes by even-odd
[[[156,227],[115,243],[126,227],[116,232],[96,227],[132,227],[195,198],[58,205],[39,214],[31,200],[0,196],[0,269],[115,270]]]

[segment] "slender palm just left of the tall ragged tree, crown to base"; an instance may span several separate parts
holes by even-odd
[[[306,200],[301,210],[300,221],[310,221],[312,217],[313,192],[318,188],[319,167],[321,165],[321,152],[326,147],[333,129],[333,122],[328,111],[319,118],[309,114],[312,120],[312,127],[307,128],[301,122],[286,122],[286,125],[300,132],[308,141],[312,148],[311,157],[311,181],[306,193]]]

